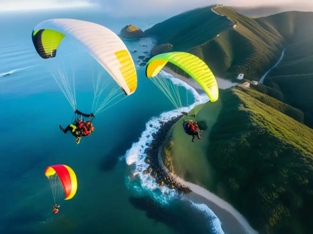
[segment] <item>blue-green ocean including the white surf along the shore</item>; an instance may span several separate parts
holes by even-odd
[[[71,123],[73,110],[50,72],[63,66],[75,76],[77,107],[88,112],[91,76],[99,66],[66,37],[57,51],[59,63],[40,58],[31,33],[39,22],[51,18],[95,22],[116,34],[128,24],[145,30],[166,19],[63,10],[0,14],[0,233],[223,233],[209,207],[161,190],[149,175],[138,172],[146,169],[144,149],[158,120],[178,114],[146,78],[145,67],[139,66],[138,56],[149,55],[155,41],[124,40],[136,64],[137,90],[96,115],[95,131],[76,145],[72,135],[59,129],[59,124]],[[103,76],[111,79],[105,72]],[[180,91],[186,89],[189,102],[207,101],[181,83]],[[187,101],[183,105],[192,108]],[[76,195],[62,201],[57,215],[51,212],[54,201],[44,175],[45,168],[55,164],[71,167],[78,181]]]

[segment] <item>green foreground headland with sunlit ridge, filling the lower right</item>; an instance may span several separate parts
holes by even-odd
[[[230,202],[260,233],[310,233],[313,130],[268,100],[255,90],[220,90],[198,112],[202,139],[192,143],[180,122],[174,126],[173,169]]]

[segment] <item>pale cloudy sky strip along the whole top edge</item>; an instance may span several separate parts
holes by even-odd
[[[217,3],[217,0],[0,0],[0,12],[47,9],[101,9],[116,16],[177,14],[197,7]],[[313,0],[222,0],[228,6],[281,6],[302,4],[313,6]]]

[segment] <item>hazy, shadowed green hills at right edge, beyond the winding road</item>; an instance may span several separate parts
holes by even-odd
[[[284,102],[302,110],[304,123],[313,128],[313,12],[283,12],[257,20],[288,42],[283,60],[265,85],[279,90]]]

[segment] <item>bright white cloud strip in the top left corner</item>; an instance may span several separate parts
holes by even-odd
[[[88,0],[3,0],[0,1],[0,12],[48,10],[65,8],[93,8],[96,2]]]

